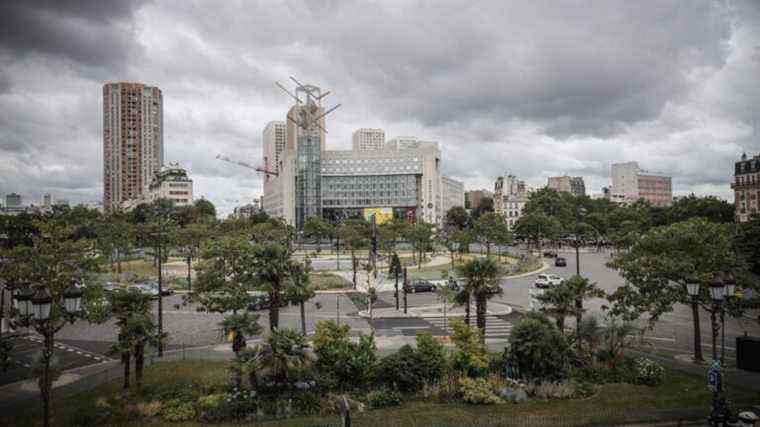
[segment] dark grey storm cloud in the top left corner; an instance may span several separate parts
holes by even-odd
[[[144,1],[0,2],[0,49],[11,55],[51,55],[113,70],[138,54],[131,28]]]

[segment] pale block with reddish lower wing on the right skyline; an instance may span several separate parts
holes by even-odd
[[[673,187],[670,176],[639,168],[636,162],[615,163],[611,168],[612,188],[610,194],[618,195],[624,203],[644,199],[654,206],[673,203]]]

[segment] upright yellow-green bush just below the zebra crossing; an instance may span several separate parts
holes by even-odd
[[[451,340],[456,351],[452,355],[452,367],[469,377],[481,377],[488,372],[488,349],[479,328],[466,325],[459,319],[451,321],[454,331]]]

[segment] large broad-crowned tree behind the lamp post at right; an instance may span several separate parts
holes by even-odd
[[[732,250],[731,235],[727,225],[696,218],[653,228],[635,239],[627,251],[619,252],[608,264],[626,280],[611,295],[613,313],[624,320],[646,313],[653,324],[673,305],[692,302],[686,282],[695,278],[702,286],[696,299],[698,305],[692,305],[694,358],[702,360],[699,307],[714,313],[707,283],[723,271],[732,270],[741,287],[756,287],[744,278],[741,260]]]

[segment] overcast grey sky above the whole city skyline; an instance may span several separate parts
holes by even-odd
[[[102,85],[164,95],[165,160],[220,211],[261,194],[261,132],[289,76],[329,89],[351,132],[440,142],[468,189],[610,164],[731,198],[760,151],[760,1],[0,2],[0,194],[102,199]]]

